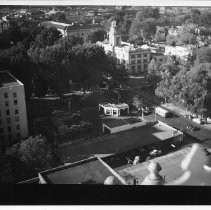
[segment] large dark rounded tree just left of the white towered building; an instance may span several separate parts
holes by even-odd
[[[66,69],[70,71],[74,82],[86,90],[96,87],[106,71],[106,54],[103,48],[93,45],[77,45],[66,58]]]

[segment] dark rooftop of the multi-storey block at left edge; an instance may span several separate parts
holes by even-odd
[[[8,87],[13,85],[22,85],[9,71],[0,71],[0,87]]]

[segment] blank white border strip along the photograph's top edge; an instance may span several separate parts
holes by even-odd
[[[1,0],[0,5],[211,6],[211,0]]]

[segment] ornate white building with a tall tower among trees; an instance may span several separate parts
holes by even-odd
[[[129,74],[142,74],[147,71],[150,62],[150,49],[148,47],[134,46],[123,42],[116,21],[111,23],[109,41],[97,42],[106,54],[116,58],[117,63],[125,64]]]

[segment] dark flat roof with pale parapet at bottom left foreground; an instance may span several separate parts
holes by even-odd
[[[52,184],[103,184],[108,176],[113,175],[96,157],[40,174]]]

